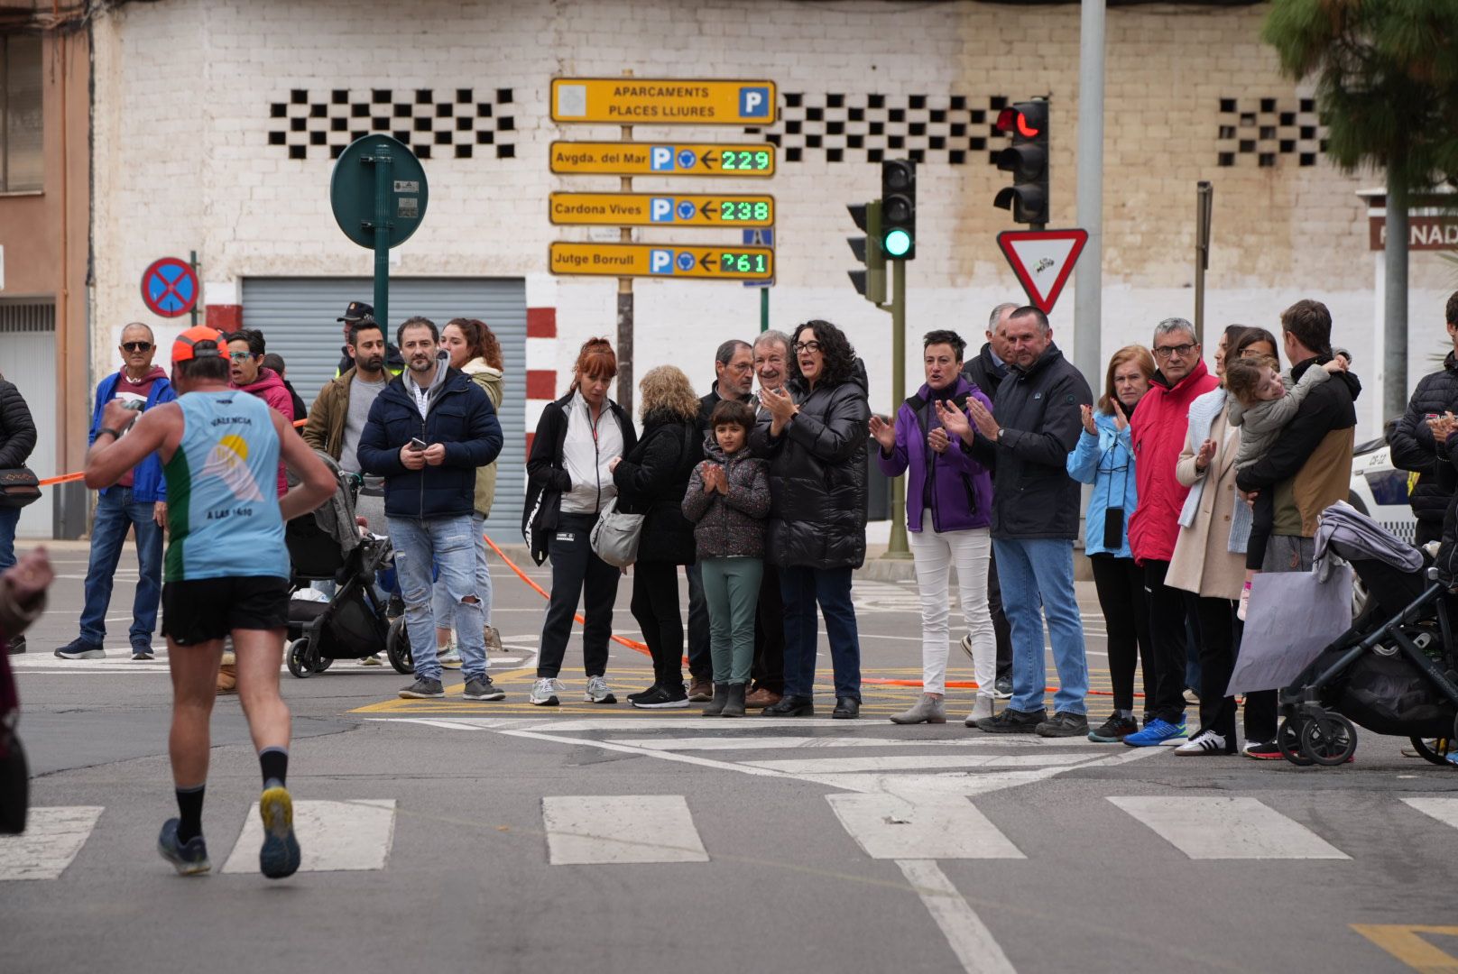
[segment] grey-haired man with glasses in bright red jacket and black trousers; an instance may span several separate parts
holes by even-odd
[[[1128,548],[1145,570],[1149,593],[1149,653],[1145,682],[1155,698],[1145,701],[1145,728],[1124,738],[1134,748],[1187,738],[1184,722],[1185,604],[1188,595],[1165,585],[1180,535],[1180,510],[1188,487],[1175,478],[1180,451],[1190,429],[1190,404],[1220,382],[1204,367],[1194,327],[1184,318],[1155,325],[1155,372],[1149,392],[1130,420],[1139,506],[1128,519]]]

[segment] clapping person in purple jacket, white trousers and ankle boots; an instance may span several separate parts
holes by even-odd
[[[892,427],[870,417],[870,436],[881,445],[876,461],[886,477],[907,474],[907,531],[921,592],[921,698],[891,717],[894,723],[946,723],[942,696],[951,642],[948,573],[956,566],[967,634],[962,650],[972,658],[977,703],[967,726],[993,716],[997,640],[987,611],[987,563],[991,557],[993,484],[987,470],[958,449],[942,423],[948,408],[967,410],[975,398],[991,401],[962,378],[967,343],[955,331],[929,331],[921,340],[926,385],[897,410]]]

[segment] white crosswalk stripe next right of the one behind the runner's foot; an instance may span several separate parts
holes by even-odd
[[[682,795],[542,798],[553,866],[709,862]]]

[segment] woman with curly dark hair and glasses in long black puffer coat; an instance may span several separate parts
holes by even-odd
[[[770,461],[768,560],[784,596],[784,696],[765,716],[815,713],[815,604],[835,669],[833,717],[860,716],[860,636],[850,573],[866,560],[866,372],[846,334],[809,321],[786,389],[764,391],[751,449]]]

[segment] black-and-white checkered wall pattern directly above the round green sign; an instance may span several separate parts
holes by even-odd
[[[367,92],[296,87],[289,101],[270,102],[268,144],[290,159],[338,159],[372,131],[388,133],[420,159],[497,159],[516,156],[516,120],[510,87],[478,92],[455,89],[389,89]]]

